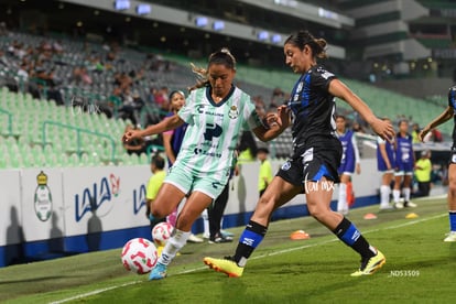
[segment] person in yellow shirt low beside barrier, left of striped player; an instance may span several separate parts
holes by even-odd
[[[163,184],[163,181],[166,176],[166,171],[164,171],[165,161],[160,155],[153,155],[151,159],[151,171],[152,176],[149,178],[148,187],[145,189],[145,216],[151,219],[151,228],[159,224],[161,220],[156,220],[151,218],[151,208],[152,204],[155,200],[156,195],[159,194],[159,189]]]

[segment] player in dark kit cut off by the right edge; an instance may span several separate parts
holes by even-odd
[[[434,128],[437,128],[445,121],[453,118],[453,146],[448,165],[448,215],[449,215],[449,234],[444,241],[456,241],[456,86],[449,88],[448,91],[448,106],[446,109],[431,121],[420,132],[419,138],[424,141],[426,134]]]

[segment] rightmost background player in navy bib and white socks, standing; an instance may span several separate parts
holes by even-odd
[[[413,153],[412,135],[409,134],[409,121],[401,120],[398,123],[399,132],[395,137],[395,172],[393,200],[394,207],[402,209],[403,207],[416,207],[416,204],[410,202],[412,193],[412,177],[415,167],[415,154]],[[404,202],[401,198],[401,188]]]

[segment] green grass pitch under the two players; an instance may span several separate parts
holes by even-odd
[[[169,276],[123,270],[120,249],[0,269],[1,303],[450,303],[456,300],[456,243],[445,243],[444,198],[416,200],[417,208],[350,211],[365,237],[387,257],[376,274],[351,278],[359,257],[311,217],[270,225],[240,279],[208,270],[205,256],[231,254],[234,243],[187,245]],[[409,213],[419,215],[405,219]],[[366,220],[366,213],[378,218]],[[292,241],[306,230],[310,240]],[[242,227],[230,229],[238,236]]]

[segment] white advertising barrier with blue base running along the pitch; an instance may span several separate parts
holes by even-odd
[[[283,162],[273,161],[276,172]],[[354,175],[355,206],[377,203],[380,173],[362,160]],[[242,226],[258,200],[259,163],[247,163],[230,181],[224,227]],[[120,248],[134,237],[151,238],[145,217],[148,165],[0,171],[0,267]],[[337,186],[333,200],[337,198]],[[181,206],[182,207],[182,206]],[[308,215],[305,196],[278,209],[273,220]],[[194,226],[202,232],[200,219]]]

